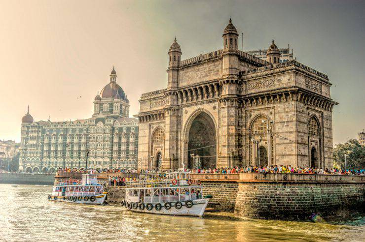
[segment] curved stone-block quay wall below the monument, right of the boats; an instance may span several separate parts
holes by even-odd
[[[204,194],[239,217],[307,219],[363,212],[365,177],[297,174],[195,174]]]

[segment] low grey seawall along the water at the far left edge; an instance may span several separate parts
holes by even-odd
[[[0,183],[53,185],[54,174],[0,173]]]

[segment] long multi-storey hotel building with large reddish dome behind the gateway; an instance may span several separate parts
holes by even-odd
[[[19,171],[54,173],[59,168],[137,168],[138,120],[129,117],[129,100],[110,82],[94,99],[90,119],[34,121],[22,118]]]

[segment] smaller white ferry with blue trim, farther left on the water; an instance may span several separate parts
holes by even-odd
[[[83,174],[82,181],[55,182],[48,200],[68,203],[103,204],[107,197],[104,187],[97,182],[97,175]]]

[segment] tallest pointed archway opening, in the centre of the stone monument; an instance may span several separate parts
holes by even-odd
[[[191,122],[188,134],[187,167],[189,169],[216,167],[217,139],[216,127],[212,118],[207,113],[200,113]],[[192,155],[195,156],[194,161]],[[196,157],[197,155],[199,155],[199,158]]]

